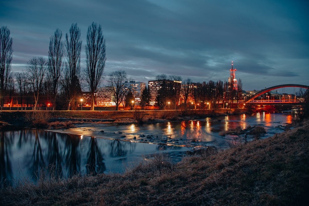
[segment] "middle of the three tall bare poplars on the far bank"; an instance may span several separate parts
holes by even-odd
[[[80,29],[77,23],[70,27],[70,34],[66,33],[66,68],[62,83],[63,93],[66,96],[67,108],[74,104],[78,92],[80,92],[80,52],[82,40],[80,40]],[[72,107],[74,108],[74,107]]]

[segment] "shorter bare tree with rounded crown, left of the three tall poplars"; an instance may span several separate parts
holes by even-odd
[[[38,103],[46,70],[46,61],[43,57],[33,57],[27,62],[27,77],[34,94],[34,109]]]

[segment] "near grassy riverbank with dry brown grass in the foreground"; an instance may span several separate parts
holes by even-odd
[[[124,174],[42,179],[0,191],[1,205],[306,205],[309,123],[177,164],[154,155]]]

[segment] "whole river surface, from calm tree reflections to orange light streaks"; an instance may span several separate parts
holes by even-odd
[[[142,125],[84,123],[52,131],[1,129],[0,187],[36,182],[42,171],[45,176],[65,178],[77,173],[123,172],[153,153],[168,154],[172,162],[178,162],[188,150],[226,148],[241,141],[237,136],[220,136],[220,131],[260,125],[267,130],[265,138],[282,132],[291,120],[291,112],[263,112]]]

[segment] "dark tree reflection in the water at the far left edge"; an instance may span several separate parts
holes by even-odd
[[[12,165],[10,150],[13,135],[0,131],[0,188],[12,185]]]

